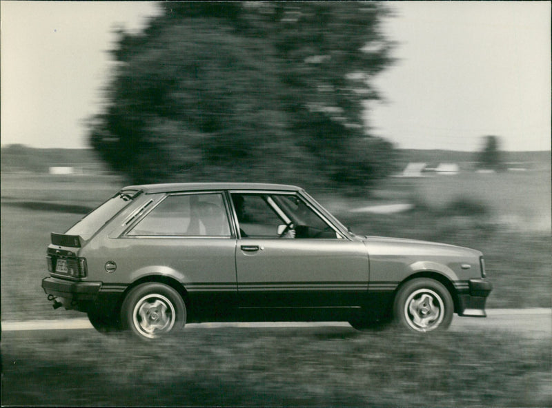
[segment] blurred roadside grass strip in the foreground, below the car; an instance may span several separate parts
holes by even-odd
[[[348,327],[96,332],[2,343],[3,405],[551,406],[549,339]],[[53,336],[53,335],[51,335]]]

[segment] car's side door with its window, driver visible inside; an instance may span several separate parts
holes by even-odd
[[[368,288],[364,243],[339,234],[295,193],[234,192],[231,196],[239,225],[240,307],[353,307],[362,303]],[[299,216],[299,207],[308,214]]]

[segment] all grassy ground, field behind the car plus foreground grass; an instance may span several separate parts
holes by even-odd
[[[484,177],[485,176],[485,177]],[[317,196],[359,234],[484,252],[489,307],[550,307],[550,174],[390,179],[368,200]],[[2,320],[68,318],[40,287],[50,231],[117,191],[111,176],[1,175]],[[408,201],[414,210],[348,209]],[[549,338],[350,327],[190,329],[155,347],[91,331],[6,332],[3,405],[551,406]]]

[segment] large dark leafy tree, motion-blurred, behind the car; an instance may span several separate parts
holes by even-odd
[[[380,3],[162,3],[119,32],[90,141],[135,183],[367,187],[391,171],[362,102],[391,63]]]

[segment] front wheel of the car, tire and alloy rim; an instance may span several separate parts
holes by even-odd
[[[447,329],[453,320],[454,303],[442,283],[416,278],[404,283],[395,296],[393,316],[398,325],[413,332]]]

